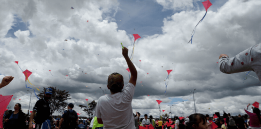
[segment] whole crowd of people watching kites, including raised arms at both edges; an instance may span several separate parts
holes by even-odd
[[[260,46],[253,46],[247,49],[233,58],[228,58],[226,54],[220,55],[220,71],[231,74],[237,72],[243,72],[253,70],[257,73],[258,77],[261,77],[259,73],[260,67],[257,62],[259,61],[257,55]],[[123,76],[119,73],[112,73],[108,76],[107,88],[111,94],[103,95],[99,98],[96,109],[95,117],[90,120],[79,120],[77,113],[73,110],[74,105],[68,104],[67,110],[64,111],[61,120],[53,120],[50,113],[49,100],[52,96],[52,89],[46,88],[44,97],[38,100],[33,108],[33,112],[30,116],[29,113],[24,114],[21,110],[21,104],[16,104],[14,111],[9,111],[9,114],[4,118],[5,129],[42,129],[42,128],[62,128],[62,129],[75,129],[75,128],[96,128],[96,129],[110,129],[110,128],[175,128],[175,129],[261,129],[260,110],[253,108],[253,111],[248,111],[248,105],[245,112],[249,115],[249,121],[245,121],[241,118],[241,115],[237,119],[228,114],[225,119],[216,118],[212,123],[209,121],[209,115],[203,114],[191,114],[185,119],[175,117],[175,120],[171,118],[167,119],[153,119],[153,116],[144,115],[144,119],[141,121],[140,113],[136,112],[136,115],[132,112],[131,102],[133,99],[135,85],[137,81],[137,71],[134,64],[128,57],[128,49],[124,47],[123,56],[128,64],[131,76],[130,80],[124,88]],[[248,54],[251,53],[251,54]],[[256,54],[248,57],[248,55]],[[258,55],[259,56],[259,55]],[[243,62],[240,63],[240,60]],[[241,64],[241,66],[240,66]],[[12,76],[4,77],[0,84],[0,88],[5,87],[13,80]],[[133,115],[133,116],[132,116]],[[164,121],[163,121],[164,120]],[[27,122],[26,122],[27,121]],[[55,121],[55,122],[53,122]],[[213,128],[213,124],[217,125]],[[35,126],[34,126],[35,125]]]

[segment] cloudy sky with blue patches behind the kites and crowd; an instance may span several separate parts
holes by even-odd
[[[156,100],[162,100],[164,113],[173,105],[172,116],[188,116],[194,113],[190,91],[196,88],[198,113],[245,114],[248,103],[261,102],[255,73],[250,72],[253,77],[243,83],[246,73],[223,74],[216,64],[221,53],[233,57],[261,42],[261,1],[211,0],[213,6],[188,44],[193,28],[206,13],[203,1],[1,1],[0,78],[15,78],[0,94],[14,95],[9,106],[21,103],[27,112],[30,89],[25,88],[25,77],[14,62],[19,61],[23,71],[33,73],[30,82],[41,90],[48,86],[68,90],[68,103],[75,105],[87,105],[85,99],[98,101],[99,87],[104,94],[110,93],[109,74],[122,74],[127,85],[128,66],[120,43],[130,56],[132,34],[139,34],[132,60],[138,71],[133,112],[158,117]],[[165,95],[166,70],[173,71]],[[32,94],[33,105],[36,101]],[[74,109],[84,114],[79,107]]]

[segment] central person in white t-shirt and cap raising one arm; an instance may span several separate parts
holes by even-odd
[[[95,110],[98,123],[103,124],[104,129],[135,129],[131,102],[137,81],[137,70],[128,56],[126,47],[122,49],[122,54],[130,69],[130,81],[122,90],[124,87],[123,76],[119,73],[109,75],[107,87],[111,94],[101,96]]]

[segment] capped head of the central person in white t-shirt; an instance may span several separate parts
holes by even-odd
[[[119,73],[112,73],[108,77],[108,89],[113,93],[121,92],[124,86],[123,76]]]

